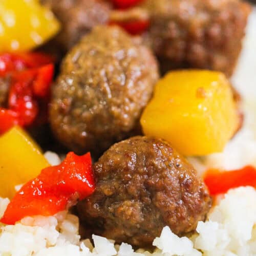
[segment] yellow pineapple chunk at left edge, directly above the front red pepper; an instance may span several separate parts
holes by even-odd
[[[15,186],[36,177],[49,166],[39,146],[20,127],[0,136],[0,197],[11,199]]]

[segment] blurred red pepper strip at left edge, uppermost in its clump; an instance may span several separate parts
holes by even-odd
[[[53,57],[43,53],[4,53],[0,55],[0,77],[13,71],[38,68],[53,62]]]

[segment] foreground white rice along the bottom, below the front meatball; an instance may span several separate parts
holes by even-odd
[[[4,212],[8,201],[0,199]],[[256,190],[252,187],[231,189],[208,216],[199,222],[197,234],[190,239],[179,238],[164,227],[153,245],[153,253],[131,245],[93,235],[95,247],[89,240],[80,241],[78,218],[68,212],[54,217],[27,217],[15,225],[2,226],[0,255],[14,256],[218,256],[256,255]]]

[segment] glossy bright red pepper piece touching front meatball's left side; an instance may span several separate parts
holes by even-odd
[[[95,189],[90,153],[70,152],[57,166],[41,171],[26,183],[9,203],[2,223],[13,225],[26,216],[51,216],[83,200]]]

